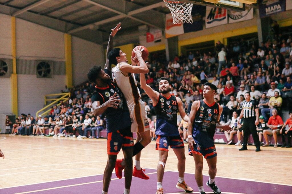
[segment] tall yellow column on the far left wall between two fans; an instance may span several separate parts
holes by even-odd
[[[18,89],[16,74],[16,36],[15,17],[11,17],[11,51],[12,51],[12,74],[11,74],[11,111],[18,116]]]

